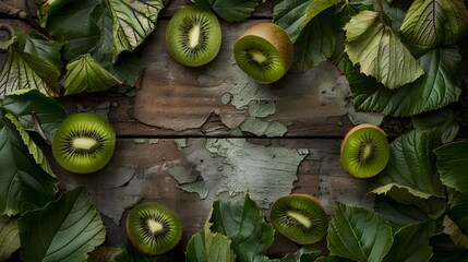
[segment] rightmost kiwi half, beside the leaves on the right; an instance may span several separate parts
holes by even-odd
[[[385,132],[374,124],[356,126],[341,142],[341,165],[358,178],[369,178],[381,172],[388,157],[389,144]]]

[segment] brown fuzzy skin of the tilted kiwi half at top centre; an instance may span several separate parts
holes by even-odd
[[[249,27],[238,39],[250,35],[259,36],[269,41],[281,53],[286,69],[292,66],[295,49],[289,35],[283,27],[272,22],[261,22]]]

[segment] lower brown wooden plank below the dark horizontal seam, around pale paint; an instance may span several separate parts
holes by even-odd
[[[223,141],[224,139],[220,139]],[[260,159],[268,158],[268,150],[292,150],[301,152],[303,159],[297,166],[297,180],[292,181],[291,192],[309,193],[317,196],[327,214],[333,213],[335,201],[369,206],[371,198],[367,194],[364,180],[348,175],[339,164],[339,140],[315,139],[231,139],[232,143],[242,142],[244,146],[254,146]],[[64,171],[51,160],[53,170],[59,176],[63,190],[84,184],[108,229],[106,243],[120,246],[127,242],[124,234],[125,214],[139,201],[158,201],[178,213],[184,225],[183,238],[178,250],[182,252],[190,237],[200,230],[206,221],[214,199],[233,200],[226,192],[201,199],[196,193],[189,193],[178,188],[180,183],[171,176],[171,170],[185,168],[204,176],[209,172],[221,174],[241,168],[230,163],[228,157],[207,151],[207,140],[135,140],[119,139],[113,158],[107,167],[96,174],[74,175]],[[48,147],[44,148],[50,156]],[[247,150],[245,150],[247,151]],[[236,156],[238,159],[239,156]],[[289,159],[289,158],[288,158]],[[281,159],[273,159],[280,162]],[[253,168],[274,174],[276,164],[255,160]],[[231,174],[231,172],[229,172]],[[257,172],[256,172],[257,174]],[[250,174],[249,176],[253,176]],[[247,178],[252,179],[252,178]],[[262,179],[256,178],[255,179]],[[263,180],[269,182],[273,178]],[[252,198],[259,188],[248,188]],[[275,194],[274,189],[269,192]],[[277,195],[275,195],[277,196]],[[268,203],[264,203],[268,205]],[[267,216],[267,207],[264,209]],[[122,215],[123,214],[123,215]],[[314,247],[324,250],[324,242]],[[278,237],[272,247],[271,255],[281,255],[295,251],[297,245],[284,237]]]

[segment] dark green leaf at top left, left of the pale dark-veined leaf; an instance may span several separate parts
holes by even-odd
[[[53,12],[47,15],[46,28],[52,39],[64,43],[63,60],[70,61],[95,48],[101,31],[96,24],[101,0],[57,0],[50,9]]]

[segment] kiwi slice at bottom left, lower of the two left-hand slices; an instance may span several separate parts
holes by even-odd
[[[144,254],[156,255],[177,246],[182,236],[182,223],[165,205],[143,202],[130,211],[125,230],[135,249]]]

